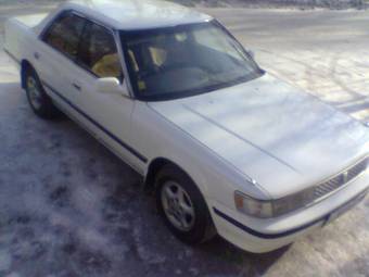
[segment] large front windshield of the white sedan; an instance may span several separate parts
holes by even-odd
[[[168,100],[260,76],[245,50],[217,23],[122,32],[136,96]]]

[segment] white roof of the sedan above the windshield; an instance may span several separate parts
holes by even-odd
[[[212,16],[161,0],[72,0],[62,4],[115,29],[144,29],[201,23]]]

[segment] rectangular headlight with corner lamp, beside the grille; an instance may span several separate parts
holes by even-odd
[[[259,218],[281,216],[307,205],[313,200],[314,188],[278,200],[257,200],[240,191],[234,192],[237,210]]]

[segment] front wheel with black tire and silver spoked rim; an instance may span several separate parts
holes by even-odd
[[[161,217],[182,242],[199,244],[216,235],[202,193],[177,166],[168,164],[160,171],[155,178],[155,197]]]

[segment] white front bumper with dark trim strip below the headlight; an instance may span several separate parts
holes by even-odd
[[[369,174],[315,205],[270,219],[253,218],[214,203],[212,215],[218,234],[243,250],[263,253],[287,245],[321,228],[360,202],[368,192]]]

